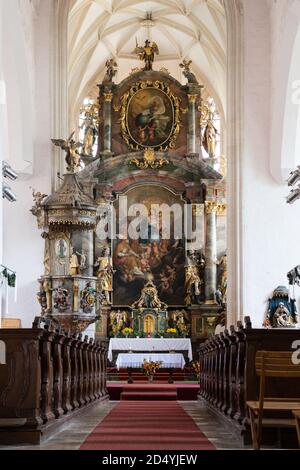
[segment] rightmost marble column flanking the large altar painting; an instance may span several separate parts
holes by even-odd
[[[215,201],[206,201],[205,303],[215,304],[217,290],[217,210]]]

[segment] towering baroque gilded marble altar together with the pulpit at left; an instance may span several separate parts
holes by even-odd
[[[144,66],[120,83],[107,60],[98,98],[84,112],[83,141],[76,131],[53,139],[66,172],[51,195],[33,192],[45,241],[37,299],[45,319],[73,332],[96,322],[103,340],[197,341],[226,311],[216,113],[190,61],[178,64],[182,84],[166,68],[154,70],[155,43],[137,53]]]

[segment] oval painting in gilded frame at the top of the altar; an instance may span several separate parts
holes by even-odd
[[[160,147],[171,137],[174,108],[170,97],[157,88],[137,91],[128,103],[127,126],[132,140],[142,147]]]

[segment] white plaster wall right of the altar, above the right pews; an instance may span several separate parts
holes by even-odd
[[[286,91],[271,90],[272,57],[280,43],[276,41],[272,47],[272,20],[268,2],[244,0],[242,314],[250,314],[255,326],[261,326],[272,290],[287,285],[286,273],[300,262],[300,207],[287,205],[289,190],[286,184],[275,181],[270,171],[271,118],[273,113],[282,112],[274,107],[274,94]],[[296,293],[300,298],[299,289]]]

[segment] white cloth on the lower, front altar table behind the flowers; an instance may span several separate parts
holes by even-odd
[[[117,369],[122,367],[140,368],[144,359],[162,362],[161,367],[170,369],[183,369],[185,366],[184,357],[180,353],[120,353],[116,361]]]

